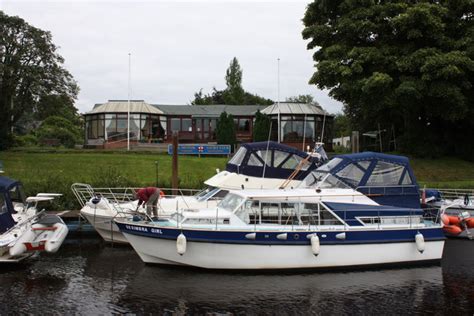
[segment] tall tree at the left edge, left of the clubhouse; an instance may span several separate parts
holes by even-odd
[[[12,126],[42,97],[76,98],[78,87],[63,62],[50,32],[0,11],[0,149],[11,146]]]

